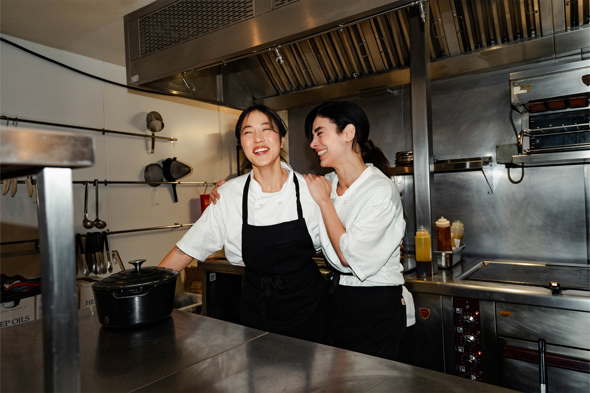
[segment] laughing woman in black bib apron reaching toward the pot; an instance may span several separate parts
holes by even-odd
[[[242,325],[324,343],[328,283],[312,259],[320,216],[303,176],[280,161],[286,133],[266,106],[242,112],[235,136],[252,171],[219,187],[222,197],[160,266],[182,270],[225,246],[228,261],[244,266]]]

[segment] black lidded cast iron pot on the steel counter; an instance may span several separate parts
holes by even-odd
[[[134,327],[171,315],[176,277],[180,272],[165,267],[141,267],[145,261],[130,261],[135,268],[92,284],[96,312],[102,325]]]

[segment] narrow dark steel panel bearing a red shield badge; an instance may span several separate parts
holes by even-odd
[[[413,296],[416,309],[416,341],[411,364],[445,372],[441,296],[428,293],[414,293]],[[421,308],[429,310],[427,319],[420,316]]]

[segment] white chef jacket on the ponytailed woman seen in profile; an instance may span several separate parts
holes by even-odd
[[[330,243],[326,227],[320,223],[320,241],[326,259],[337,270],[352,273],[340,276],[340,284],[348,286],[402,285],[404,267],[399,263],[405,232],[404,210],[395,182],[383,175],[373,164],[352,185],[338,196],[338,176],[331,172],[324,177],[332,183],[330,199],[346,232],[340,237],[340,251],[349,264],[342,266]],[[415,323],[414,301],[405,287],[407,325]]]

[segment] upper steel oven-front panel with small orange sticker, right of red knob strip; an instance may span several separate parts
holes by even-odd
[[[496,302],[496,326],[502,337],[542,338],[551,345],[590,350],[590,313]]]

